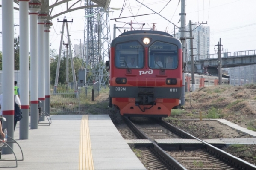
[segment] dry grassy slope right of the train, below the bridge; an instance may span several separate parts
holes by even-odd
[[[255,104],[256,84],[245,86],[210,86],[186,93],[184,118],[198,118],[192,112],[202,111],[204,118],[225,118],[243,127],[256,130],[256,124],[249,121],[256,119]],[[186,116],[187,115],[187,116]]]

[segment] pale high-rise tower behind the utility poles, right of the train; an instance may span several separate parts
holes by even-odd
[[[192,23],[196,24],[196,23]],[[190,50],[193,50],[194,58],[199,55],[207,55],[210,52],[210,27],[192,25],[193,49],[190,49],[190,39],[186,40],[187,60],[190,61]],[[196,28],[197,27],[197,28]],[[174,36],[174,35],[173,35]],[[180,32],[177,32],[176,37],[180,38]],[[186,25],[186,37],[189,37],[189,25]]]

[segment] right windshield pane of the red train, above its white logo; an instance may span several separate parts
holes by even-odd
[[[149,48],[149,67],[151,69],[176,69],[178,48],[174,44],[156,41]]]

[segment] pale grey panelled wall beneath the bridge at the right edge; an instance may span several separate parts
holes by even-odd
[[[256,65],[233,67],[229,70],[230,85],[256,83]]]

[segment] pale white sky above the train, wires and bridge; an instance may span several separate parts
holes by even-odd
[[[52,4],[56,0],[49,0]],[[146,23],[144,29],[150,29],[153,27],[153,23],[156,23],[156,30],[167,31],[173,34],[174,25],[169,23],[171,21],[176,26],[180,27],[181,2],[179,0],[138,0],[150,9],[153,9],[156,13],[162,15],[167,20],[154,13],[147,7],[141,5],[136,0],[111,0],[109,9],[109,19],[118,17],[129,17],[135,15],[144,15],[139,17],[129,17],[124,19],[118,19],[121,22],[138,22]],[[0,1],[1,2],[1,1]],[[76,0],[74,0],[76,2]],[[70,2],[71,6],[74,2]],[[82,6],[84,0],[81,3],[77,3],[75,6]],[[122,7],[124,6],[123,10]],[[203,26],[210,27],[210,54],[216,53],[215,45],[221,38],[223,49],[227,52],[256,50],[256,0],[186,0],[186,25],[189,20],[197,23],[206,23]],[[53,13],[57,14],[66,9],[66,4],[55,7]],[[1,9],[0,9],[1,11]],[[122,11],[122,12],[121,12]],[[68,23],[69,32],[71,35],[71,43],[79,44],[79,41],[84,40],[84,23],[85,23],[85,11],[84,9],[67,13],[59,16],[59,20],[62,20],[64,16],[68,20],[73,19],[73,23]],[[0,20],[2,19],[2,12],[0,12]],[[59,43],[61,39],[60,31],[62,29],[62,23],[57,22],[57,18],[52,20],[53,26],[50,29],[50,43],[51,49],[59,51]],[[14,11],[14,23],[19,25],[19,12]],[[113,26],[116,24],[120,28],[121,32],[124,29],[128,29],[128,24],[115,22],[110,20],[111,39],[113,39]],[[139,28],[139,25],[134,25],[135,28]],[[0,22],[0,32],[2,30],[2,23]],[[14,36],[19,35],[19,26],[14,28]],[[176,29],[176,32],[179,30]],[[67,35],[66,29],[64,35]],[[121,32],[116,31],[116,36]],[[67,42],[67,38],[64,39]],[[2,37],[0,35],[0,51],[2,51]]]

